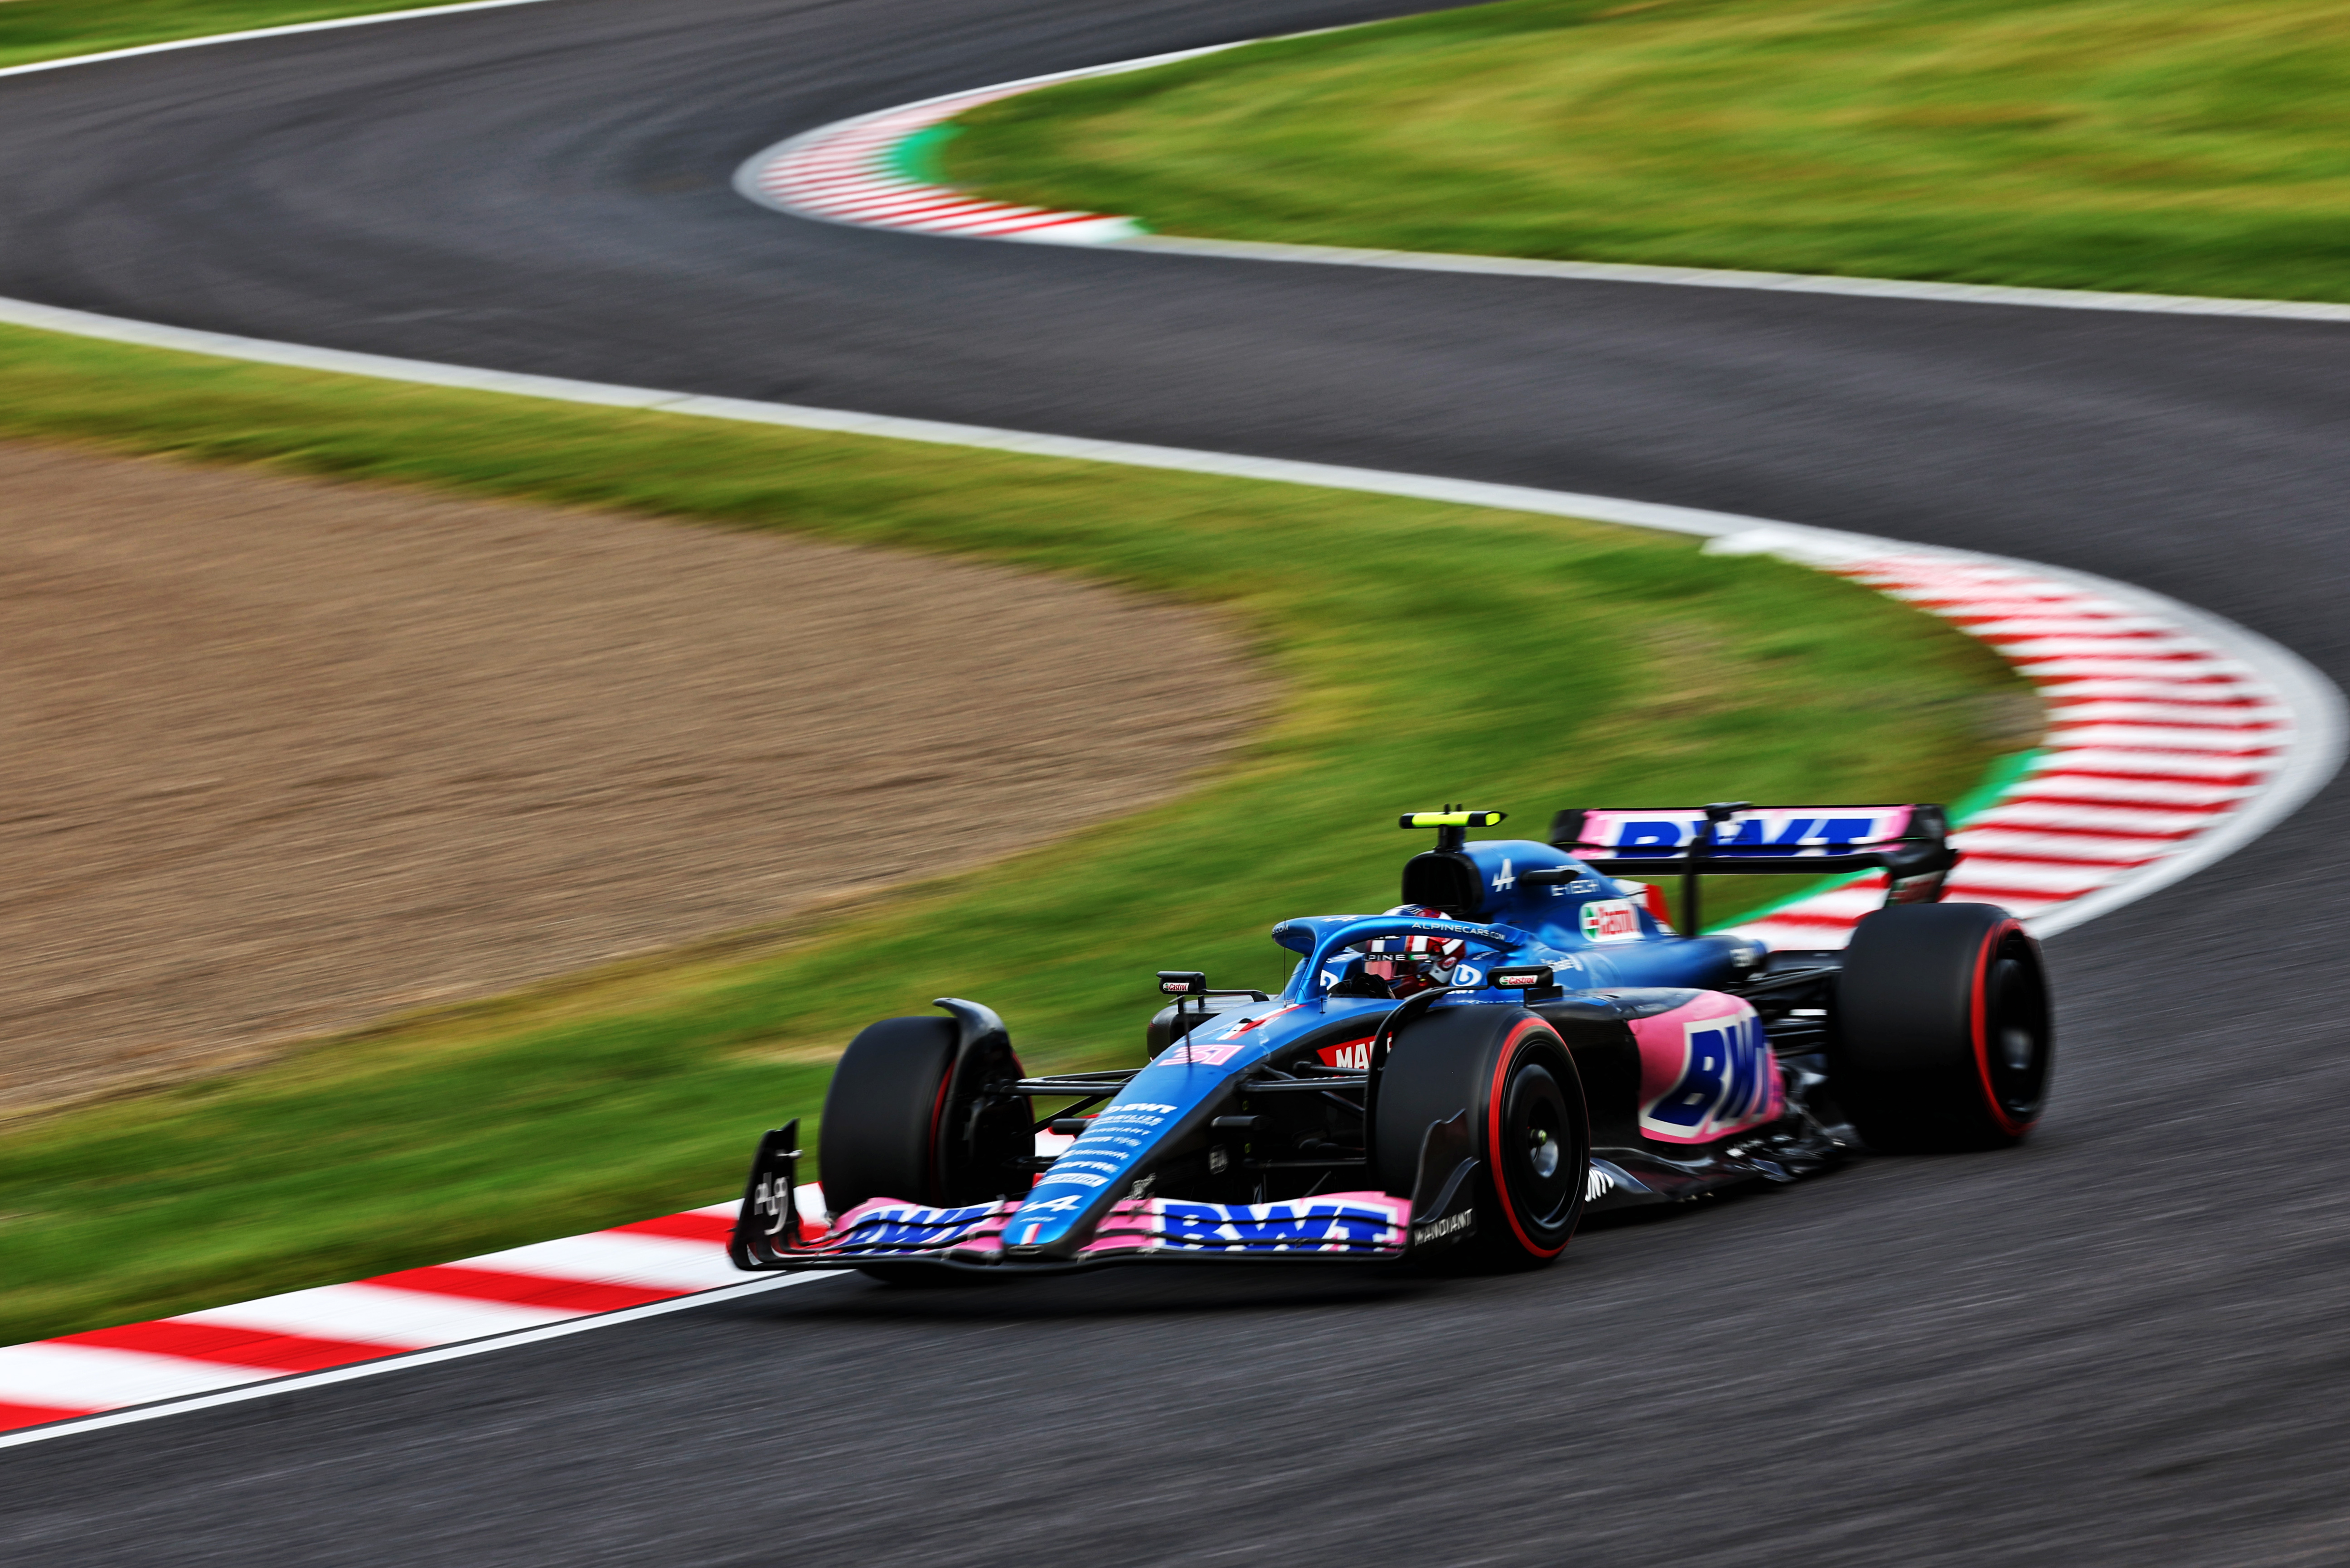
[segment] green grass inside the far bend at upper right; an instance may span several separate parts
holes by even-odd
[[[961,127],[1173,235],[2350,300],[2338,0],[1513,0]]]

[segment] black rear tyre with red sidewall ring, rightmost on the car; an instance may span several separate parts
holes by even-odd
[[[1835,981],[1835,1099],[1873,1148],[2005,1148],[2047,1103],[2056,1038],[2040,944],[1993,904],[1894,904]]]

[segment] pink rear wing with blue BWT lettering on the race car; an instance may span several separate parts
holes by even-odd
[[[1680,930],[1692,937],[1699,876],[1885,871],[1887,904],[1932,904],[1958,864],[1939,805],[1563,810],[1551,845],[1603,876],[1680,876]]]

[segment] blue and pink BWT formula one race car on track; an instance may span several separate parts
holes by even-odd
[[[1283,920],[1281,995],[1159,974],[1147,1063],[1029,1077],[1003,1021],[884,1019],[825,1096],[825,1223],[766,1134],[731,1253],[884,1279],[1133,1261],[1556,1258],[1593,1209],[1793,1181],[1854,1145],[1995,1148],[2049,1080],[2040,948],[1943,904],[1936,805],[1415,812],[1384,915]],[[1701,937],[1701,873],[1882,871],[1842,951]],[[1647,883],[1678,873],[1678,934]],[[1039,1117],[1036,1101],[1062,1101]],[[1074,1136],[1055,1155],[1039,1134]],[[1053,1138],[1060,1143],[1060,1138]]]

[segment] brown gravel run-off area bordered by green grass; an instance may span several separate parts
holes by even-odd
[[[1269,697],[1062,577],[0,444],[0,1113],[973,866]]]

